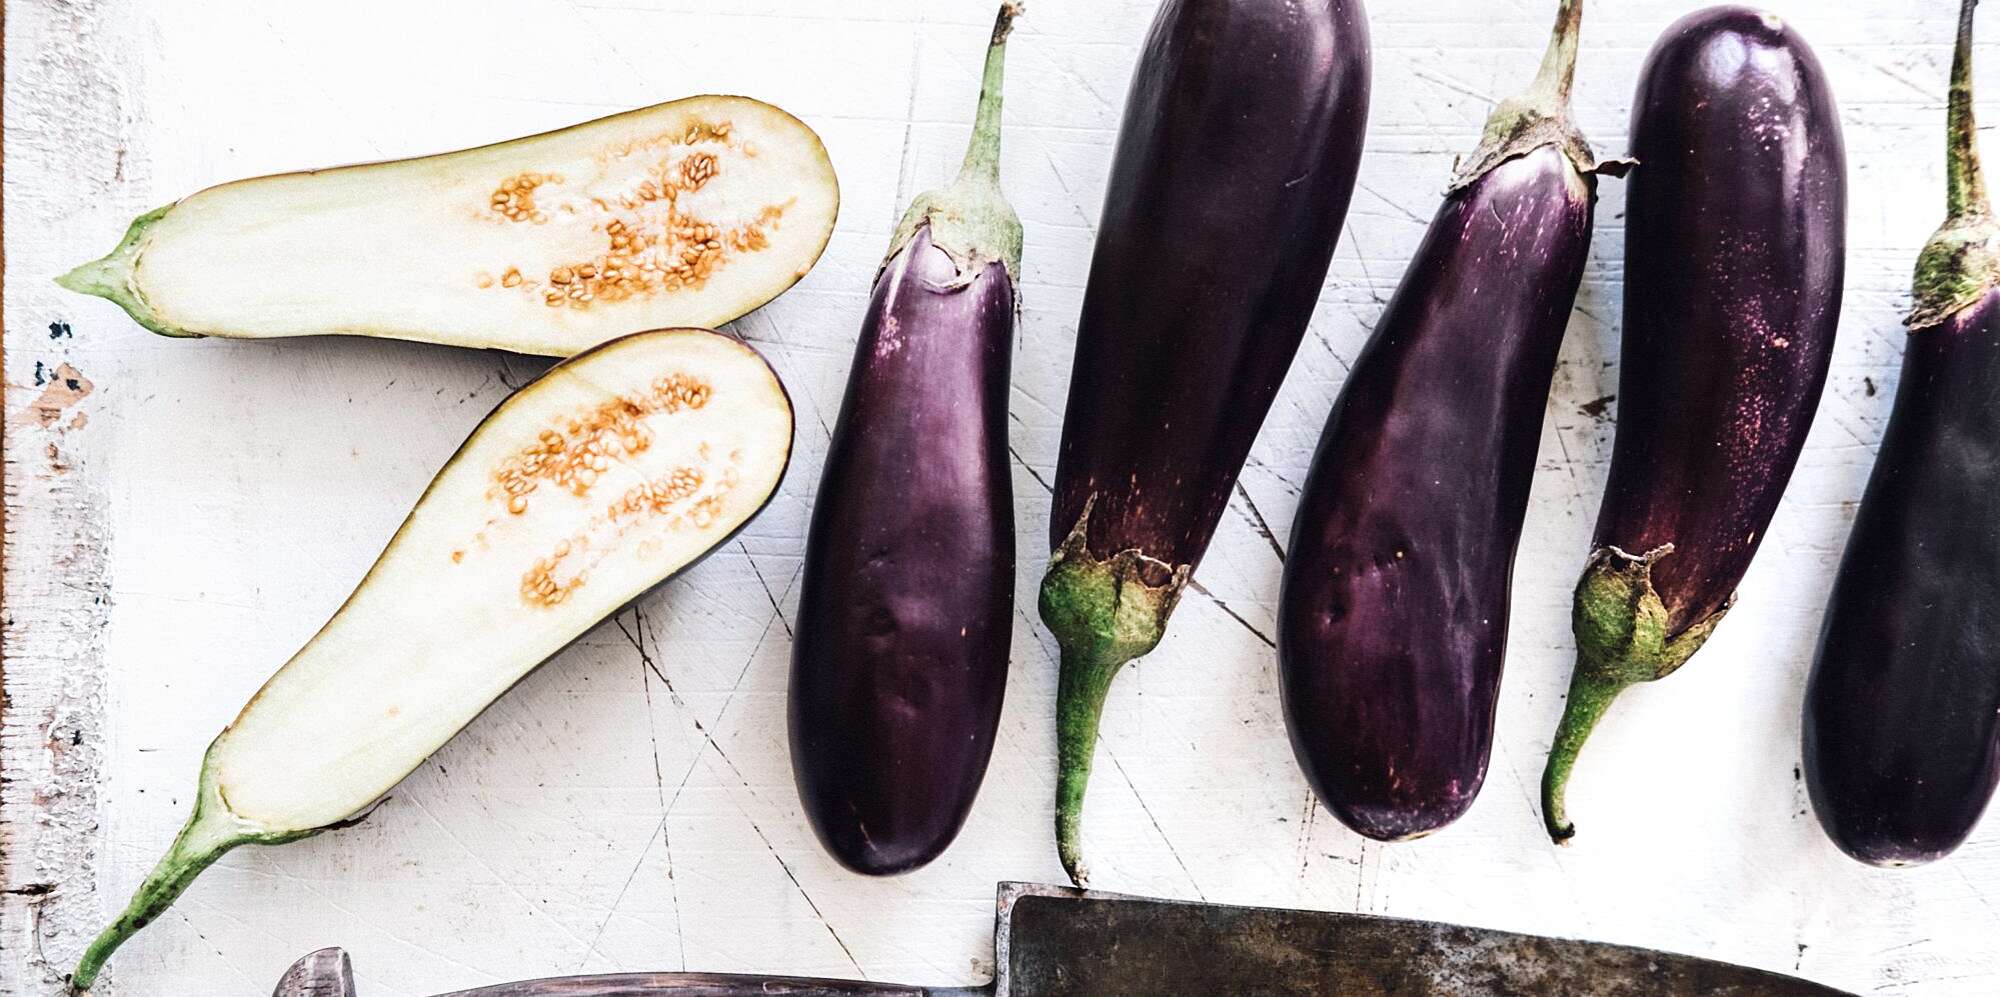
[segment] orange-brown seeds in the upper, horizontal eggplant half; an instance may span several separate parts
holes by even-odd
[[[608,214],[592,226],[604,234],[604,250],[586,260],[556,264],[546,280],[526,280],[518,268],[508,268],[500,284],[524,286],[540,294],[550,308],[588,308],[596,300],[626,300],[634,294],[700,288],[730,254],[758,252],[770,246],[770,230],[778,226],[786,204],[770,204],[750,222],[718,226],[682,210],[682,194],[700,190],[722,170],[722,160],[696,144],[722,146],[754,154],[750,146],[730,140],[728,122],[696,122],[680,136],[656,136],[622,150],[608,150],[606,164],[632,156],[650,156],[646,176],[628,192],[582,196],[560,210],[592,208]],[[682,152],[684,150],[684,152]],[[524,172],[508,178],[492,194],[492,210],[510,222],[546,222],[536,208],[534,190],[546,182],[562,184],[562,176]],[[478,286],[492,286],[492,276],[480,274]]]

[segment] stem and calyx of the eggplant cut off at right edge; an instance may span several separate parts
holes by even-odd
[[[1958,8],[1958,48],[1952,54],[1944,128],[1948,218],[1916,258],[1914,306],[1904,320],[1910,332],[1942,324],[2000,286],[2000,224],[1986,198],[1978,120],[1972,114],[1974,8],[1978,0],[1964,0]]]

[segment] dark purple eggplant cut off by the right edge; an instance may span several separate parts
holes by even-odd
[[[1956,849],[2000,781],[2000,222],[1958,16],[1950,218],[1916,268],[1902,382],[1806,685],[1806,791],[1840,851]]]

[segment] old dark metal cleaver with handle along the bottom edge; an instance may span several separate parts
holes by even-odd
[[[624,973],[440,997],[1838,997],[1740,965],[1626,945],[1326,911],[1224,907],[1000,885],[994,981],[900,987],[838,979]],[[306,955],[272,997],[356,997],[348,955]]]

